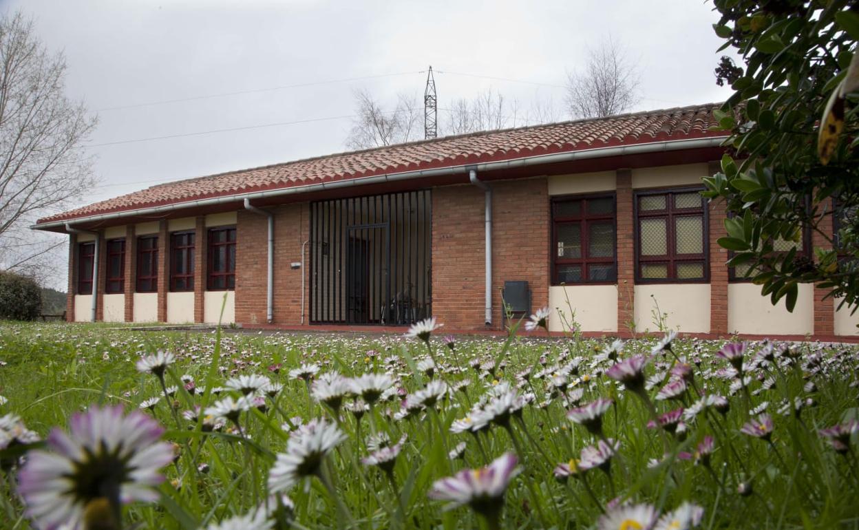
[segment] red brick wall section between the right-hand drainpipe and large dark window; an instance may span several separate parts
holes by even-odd
[[[527,280],[532,312],[549,305],[549,189],[545,178],[491,186],[492,327],[501,329],[505,281]]]

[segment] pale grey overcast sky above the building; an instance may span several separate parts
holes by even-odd
[[[728,97],[713,75],[717,17],[700,0],[0,5],[34,17],[47,48],[65,54],[67,94],[98,114],[89,149],[101,185],[81,204],[342,151],[354,91],[367,89],[380,101],[401,92],[423,96],[420,72],[429,64],[438,71],[439,107],[491,88],[526,110],[550,99],[560,108],[567,72],[582,67],[589,46],[611,37],[640,70],[637,110]],[[235,92],[244,94],[201,97]],[[440,111],[442,127],[445,118]],[[304,123],[170,137],[283,122]],[[152,137],[170,138],[124,143]]]

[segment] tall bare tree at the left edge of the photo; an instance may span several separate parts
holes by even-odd
[[[27,225],[94,186],[83,143],[93,131],[82,104],[64,95],[65,58],[47,52],[33,21],[0,19],[0,270],[39,276],[63,243]]]

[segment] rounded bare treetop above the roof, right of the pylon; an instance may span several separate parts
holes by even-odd
[[[567,108],[573,118],[605,118],[623,113],[639,100],[639,73],[613,40],[588,51],[584,71],[568,74]]]

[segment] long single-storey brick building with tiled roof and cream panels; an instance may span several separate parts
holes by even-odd
[[[624,336],[665,314],[705,336],[856,335],[813,285],[789,313],[726,267],[724,212],[698,195],[723,153],[713,108],[181,180],[35,228],[70,235],[69,320],[345,329],[435,315],[452,331],[500,330],[501,288],[526,281],[533,309],[560,309],[554,331],[575,318]]]

